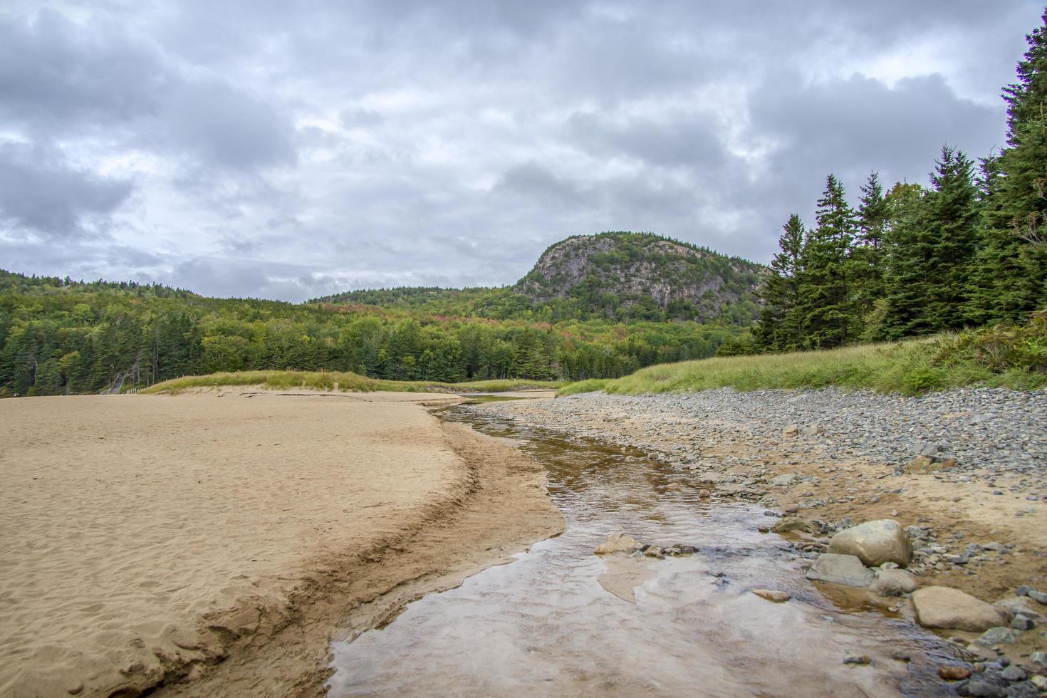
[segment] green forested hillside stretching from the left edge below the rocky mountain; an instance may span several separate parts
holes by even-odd
[[[355,371],[392,380],[618,377],[711,356],[742,331],[696,322],[496,320],[384,307],[216,299],[162,286],[0,272],[0,396],[92,392],[220,370]],[[455,298],[471,292],[443,292]],[[499,297],[502,290],[478,290]],[[439,294],[438,294],[439,295]]]

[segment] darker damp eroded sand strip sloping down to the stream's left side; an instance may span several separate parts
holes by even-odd
[[[508,440],[461,424],[443,423],[442,428],[467,467],[451,497],[427,506],[396,535],[364,549],[333,553],[317,573],[289,592],[286,607],[247,603],[237,612],[207,620],[204,627],[220,643],[217,663],[173,666],[146,692],[324,696],[333,673],[331,640],[382,627],[410,602],[459,586],[470,575],[563,531],[539,464]]]

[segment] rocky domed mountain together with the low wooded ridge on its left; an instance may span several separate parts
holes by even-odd
[[[643,232],[562,240],[511,287],[350,291],[316,302],[402,308],[433,314],[606,320],[720,320],[749,324],[766,268]]]

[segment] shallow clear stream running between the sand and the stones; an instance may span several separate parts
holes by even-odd
[[[451,409],[525,442],[545,465],[564,533],[461,587],[410,604],[393,623],[333,645],[331,696],[952,695],[933,676],[946,643],[861,606],[840,607],[804,578],[787,542],[747,503],[709,503],[634,449],[526,430]],[[690,556],[593,555],[624,530]],[[754,588],[793,594],[773,604]],[[844,665],[848,650],[870,666]],[[891,658],[901,650],[911,662]]]

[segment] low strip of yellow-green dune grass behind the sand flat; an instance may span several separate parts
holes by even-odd
[[[504,392],[528,388],[555,390],[563,381],[528,381],[521,379],[439,383],[433,381],[386,381],[358,374],[310,370],[244,370],[185,376],[152,385],[141,392],[176,392],[187,388],[230,385],[259,385],[269,390],[305,388],[309,390],[375,390],[401,392]]]

